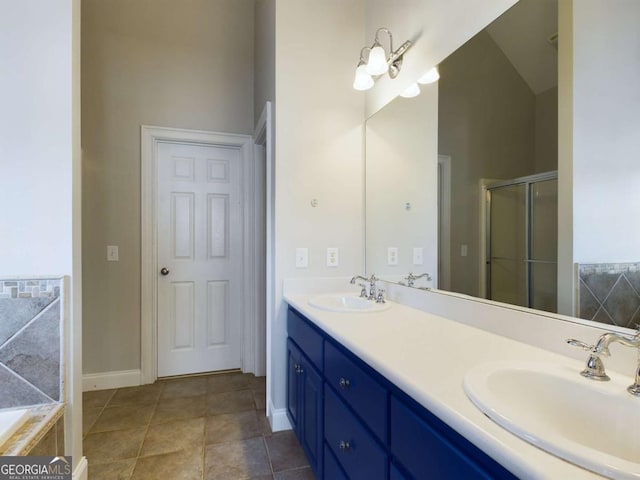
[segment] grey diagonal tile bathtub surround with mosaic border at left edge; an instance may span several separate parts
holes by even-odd
[[[62,400],[61,285],[0,280],[0,408]]]

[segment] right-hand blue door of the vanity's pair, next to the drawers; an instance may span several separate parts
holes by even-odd
[[[318,471],[322,465],[322,378],[304,356],[301,361],[300,380],[302,390],[298,411],[298,422],[301,423],[300,440],[311,468],[319,478],[322,478]]]

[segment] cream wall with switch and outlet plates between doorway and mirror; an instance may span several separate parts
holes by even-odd
[[[276,317],[271,406],[285,407],[286,305],[282,280],[347,277],[363,268],[364,97],[353,69],[364,42],[364,1],[276,2]],[[317,207],[311,200],[317,199]],[[295,249],[309,249],[296,269]],[[325,265],[327,247],[339,266]],[[348,287],[348,285],[345,285]]]

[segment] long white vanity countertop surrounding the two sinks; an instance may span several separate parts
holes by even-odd
[[[518,478],[603,478],[498,426],[463,390],[466,372],[485,362],[547,362],[576,375],[581,362],[398,303],[383,312],[334,313],[310,306],[312,296],[285,300]]]

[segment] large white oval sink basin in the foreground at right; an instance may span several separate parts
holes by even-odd
[[[640,398],[630,378],[610,382],[543,363],[492,363],[464,389],[489,418],[529,443],[601,475],[640,479]]]

